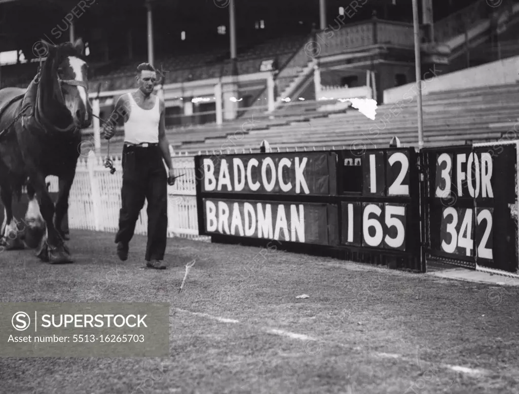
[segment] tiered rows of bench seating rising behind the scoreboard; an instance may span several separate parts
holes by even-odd
[[[418,145],[415,100],[381,105],[375,120],[354,108],[346,113],[323,116],[319,111],[309,111],[311,105],[316,103],[293,105],[290,110],[293,115],[288,117],[277,117],[279,114],[274,113],[274,119],[263,115],[229,121],[221,127],[212,124],[171,129],[168,138],[176,152],[188,154],[212,153],[213,150],[226,153],[227,147],[257,151],[264,139],[272,148],[282,150],[293,150],[296,146],[308,150],[312,147],[380,147],[387,146],[393,135],[397,135],[404,146]],[[519,85],[430,93],[424,96],[423,113],[425,146],[496,141],[519,123]],[[122,141],[114,140],[111,153],[119,154],[121,147]],[[102,143],[101,152],[106,154],[106,142]]]

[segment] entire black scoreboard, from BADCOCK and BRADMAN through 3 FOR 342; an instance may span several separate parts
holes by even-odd
[[[200,155],[199,234],[519,274],[517,155],[515,143]]]

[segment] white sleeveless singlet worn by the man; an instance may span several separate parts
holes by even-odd
[[[125,123],[125,142],[140,144],[143,142],[159,142],[159,120],[160,120],[160,100],[155,98],[155,105],[151,110],[143,110],[131,93],[130,96],[130,117]]]

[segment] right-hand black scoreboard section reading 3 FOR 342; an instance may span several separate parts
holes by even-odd
[[[471,268],[517,272],[517,150],[502,144],[422,150],[428,253]]]

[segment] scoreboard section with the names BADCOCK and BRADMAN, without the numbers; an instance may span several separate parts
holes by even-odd
[[[336,245],[336,162],[332,152],[197,156],[199,233]]]

